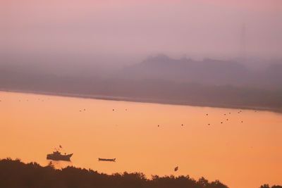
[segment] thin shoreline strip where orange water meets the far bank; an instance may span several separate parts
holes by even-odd
[[[245,109],[245,110],[255,110],[255,111],[271,111],[274,113],[282,113],[282,108],[267,108],[259,106],[236,106],[227,104],[200,104],[192,103],[189,101],[168,101],[168,100],[157,100],[157,99],[145,99],[145,98],[135,98],[128,96],[106,96],[98,94],[73,94],[73,93],[56,93],[56,92],[40,92],[40,91],[28,91],[20,89],[3,89],[0,88],[0,92],[13,92],[13,93],[23,93],[23,94],[42,94],[47,96],[66,96],[80,99],[99,99],[106,101],[128,101],[137,103],[149,103],[149,104],[168,104],[168,105],[179,105],[179,106],[195,106],[195,107],[209,107],[209,108],[231,108],[231,109]]]

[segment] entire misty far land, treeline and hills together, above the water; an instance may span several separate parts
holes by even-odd
[[[8,62],[0,64],[2,90],[282,111],[282,63],[254,72],[231,61],[157,56],[104,75],[80,63],[45,68]]]

